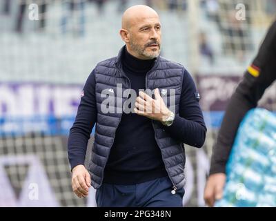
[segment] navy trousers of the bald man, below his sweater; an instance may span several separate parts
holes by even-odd
[[[96,191],[98,207],[182,207],[184,189],[171,193],[169,177],[141,184],[102,184]]]

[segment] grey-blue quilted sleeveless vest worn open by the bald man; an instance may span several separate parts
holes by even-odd
[[[130,81],[121,67],[122,52],[123,48],[117,57],[101,61],[95,68],[97,123],[95,142],[92,147],[88,169],[92,178],[92,186],[95,189],[98,189],[103,181],[103,171],[108,162],[110,148],[115,140],[116,129],[121,121],[122,108],[124,108],[122,104],[127,99],[127,97],[123,97],[121,100],[116,99],[116,86],[117,84],[121,84],[123,93],[124,90],[130,88]],[[165,96],[165,98],[168,97],[167,106],[171,110],[174,108],[175,114],[179,113],[183,73],[184,67],[180,64],[168,61],[163,57],[158,57],[155,60],[155,65],[146,75],[146,88],[150,90],[159,88],[161,92],[167,89]],[[106,97],[101,97],[101,92],[104,89],[112,92],[112,95],[115,97],[114,108],[121,111],[115,113],[101,111],[101,104],[106,99]],[[169,89],[175,89],[175,104],[170,104],[169,96],[171,90]],[[162,97],[164,98],[163,95]],[[152,127],[155,131],[155,140],[160,148],[166,171],[172,182],[172,188],[175,190],[183,188],[186,161],[184,144],[170,137],[160,122],[152,120]]]

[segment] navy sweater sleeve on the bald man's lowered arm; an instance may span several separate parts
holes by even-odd
[[[84,165],[88,140],[97,120],[94,70],[86,80],[81,96],[77,116],[68,137],[68,159],[71,170],[79,164]]]

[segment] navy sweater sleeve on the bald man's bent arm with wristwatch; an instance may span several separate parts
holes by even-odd
[[[173,124],[165,129],[179,142],[200,148],[205,142],[207,128],[197,94],[193,78],[184,70],[179,115],[175,115]]]

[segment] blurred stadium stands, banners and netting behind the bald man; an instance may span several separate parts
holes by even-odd
[[[186,146],[184,204],[204,206],[217,128],[275,0],[0,0],[0,206],[95,206],[93,189],[72,193],[68,131],[90,71],[123,46],[122,12],[139,3],[159,12],[161,54],[186,66],[201,93],[208,135],[204,148]],[[275,111],[275,95],[274,85],[260,105]]]

